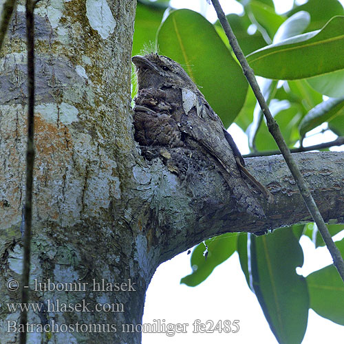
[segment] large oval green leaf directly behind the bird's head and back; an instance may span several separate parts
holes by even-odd
[[[197,12],[175,10],[160,27],[158,45],[161,54],[184,66],[229,127],[244,105],[248,83],[214,26]]]

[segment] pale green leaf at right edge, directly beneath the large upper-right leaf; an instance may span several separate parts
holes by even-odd
[[[344,70],[337,70],[324,75],[314,76],[306,81],[316,91],[332,98],[344,96]]]

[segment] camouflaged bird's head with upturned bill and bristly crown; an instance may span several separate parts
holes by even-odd
[[[149,87],[184,87],[195,92],[197,89],[182,66],[169,57],[153,53],[133,56],[132,61],[136,65],[139,90]]]

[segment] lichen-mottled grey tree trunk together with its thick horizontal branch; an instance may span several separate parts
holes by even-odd
[[[36,10],[30,297],[41,310],[30,308],[28,343],[140,343],[144,295],[163,261],[213,235],[310,220],[280,155],[246,159],[276,198],[266,204],[257,195],[266,212],[257,219],[240,212],[210,157],[171,149],[167,159],[138,147],[130,107],[135,6],[54,0]],[[1,343],[17,343],[22,330],[13,280],[21,280],[23,256],[24,18],[19,3],[0,53]],[[295,157],[325,221],[343,223],[344,154]]]

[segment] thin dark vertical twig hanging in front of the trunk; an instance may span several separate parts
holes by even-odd
[[[34,175],[34,1],[26,0],[26,39],[28,50],[28,146],[26,150],[26,191],[25,191],[25,230],[23,279],[21,282],[21,303],[29,301],[30,245],[32,229],[32,188]],[[26,343],[26,326],[28,312],[21,312],[21,324],[24,331],[20,333],[19,343]]]

